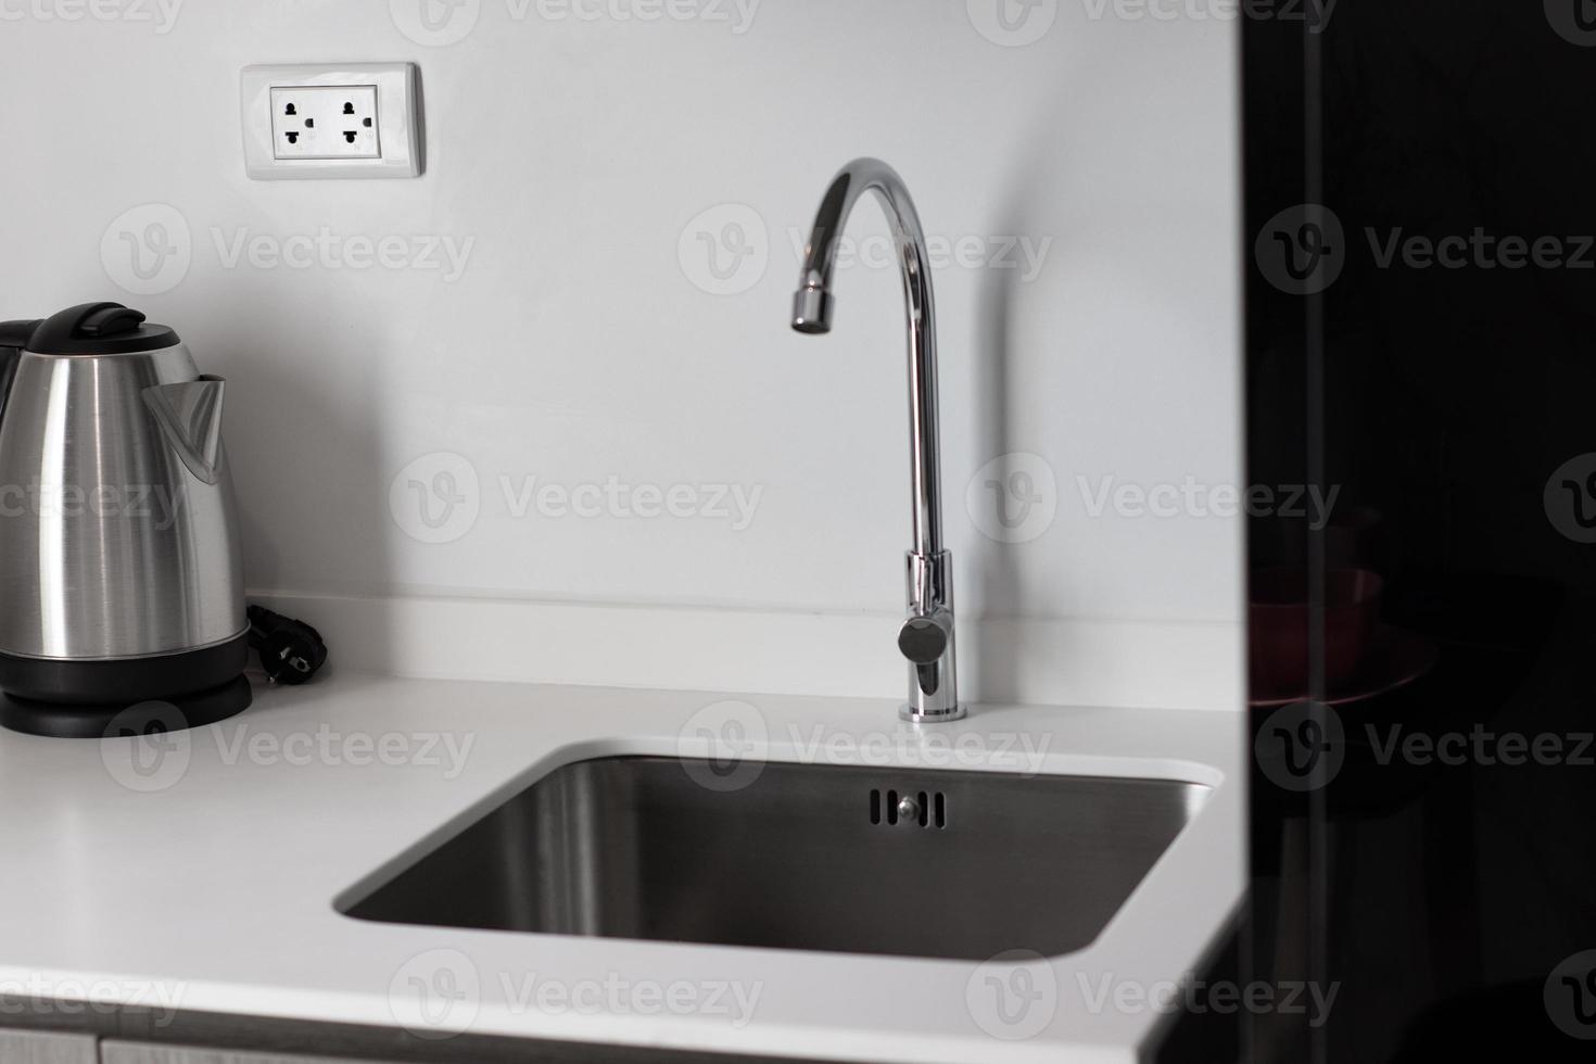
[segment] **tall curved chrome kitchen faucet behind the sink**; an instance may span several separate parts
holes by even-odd
[[[854,160],[838,172],[820,201],[809,246],[804,249],[793,329],[832,332],[832,271],[847,217],[865,191],[875,191],[887,220],[903,271],[908,306],[908,431],[913,451],[915,547],[908,552],[908,619],[899,632],[899,651],[908,659],[908,702],[900,716],[916,724],[956,721],[959,705],[953,630],[953,555],[942,549],[942,463],[937,445],[937,309],[930,295],[926,233],[915,201],[891,166]]]

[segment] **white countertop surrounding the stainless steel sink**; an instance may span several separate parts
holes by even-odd
[[[1213,791],[1092,946],[1025,967],[1023,986],[1044,999],[1012,1027],[969,1003],[975,976],[990,971],[967,962],[407,927],[335,911],[335,898],[401,853],[560,764],[702,756],[678,735],[729,697],[768,723],[772,761],[865,756],[846,763],[1175,778]],[[163,759],[142,767],[129,761],[134,739],[0,732],[0,994],[421,1026],[407,984],[447,970],[458,1008],[437,1032],[918,1062],[1058,1061],[1069,1050],[1071,1061],[1128,1062],[1163,1016],[1112,994],[1104,1003],[1103,991],[1128,986],[1133,997],[1119,1000],[1133,1002],[1187,976],[1242,897],[1243,721],[982,705],[916,732],[873,699],[343,675],[259,689],[254,708],[169,737]],[[816,727],[847,740],[817,753],[793,742]],[[916,745],[930,731],[985,751],[982,763]],[[1031,737],[1029,748],[1010,748],[1013,735]],[[579,1008],[539,1008],[528,989],[551,983],[579,997],[608,989]],[[654,992],[669,1000],[672,986],[681,1005],[702,1008],[661,1005]],[[1037,1016],[1045,1027],[1031,1032]]]

